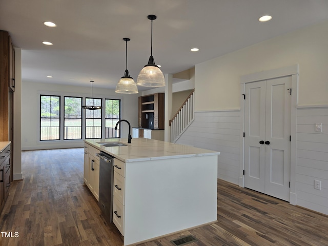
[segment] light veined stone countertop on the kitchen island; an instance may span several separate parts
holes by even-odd
[[[185,158],[195,156],[219,155],[220,152],[195,148],[187,145],[172,144],[148,138],[133,138],[128,144],[127,138],[87,139],[87,144],[104,151],[125,162]],[[127,146],[104,147],[98,142],[121,142]]]

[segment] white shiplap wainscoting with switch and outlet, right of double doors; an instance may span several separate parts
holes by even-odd
[[[315,124],[322,123],[322,132]],[[297,205],[328,214],[328,107],[297,109]],[[321,181],[321,191],[314,180]]]

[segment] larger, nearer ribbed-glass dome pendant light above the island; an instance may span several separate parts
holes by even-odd
[[[165,86],[165,78],[162,71],[160,71],[158,66],[155,65],[155,60],[153,57],[153,20],[157,17],[153,14],[148,15],[147,17],[152,21],[150,57],[148,64],[141,69],[138,75],[137,85],[145,87],[162,87]]]

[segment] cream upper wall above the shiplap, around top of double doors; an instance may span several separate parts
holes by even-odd
[[[195,109],[240,108],[240,76],[299,64],[299,105],[328,105],[328,22],[195,66]]]

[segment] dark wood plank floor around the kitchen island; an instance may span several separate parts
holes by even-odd
[[[122,245],[106,226],[97,202],[83,185],[83,149],[25,151],[24,180],[12,182],[0,217],[0,245]],[[218,222],[139,244],[172,246],[192,234],[188,245],[328,245],[328,216],[218,180]],[[18,232],[18,237],[15,236]],[[17,234],[16,234],[17,235]]]

